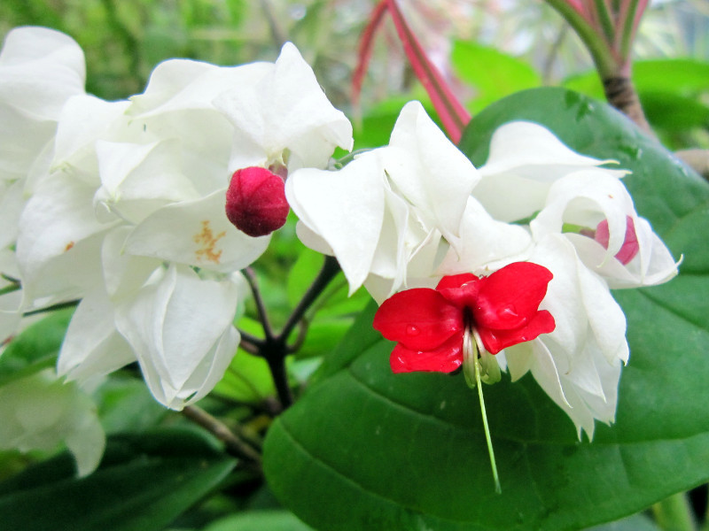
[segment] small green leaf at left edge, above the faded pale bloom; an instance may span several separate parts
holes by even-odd
[[[15,337],[0,356],[0,385],[54,366],[73,313],[52,312]]]

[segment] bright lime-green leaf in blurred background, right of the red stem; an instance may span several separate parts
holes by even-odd
[[[472,112],[518,90],[541,85],[541,76],[531,65],[478,42],[456,41],[451,62],[458,76],[476,89],[468,105]]]

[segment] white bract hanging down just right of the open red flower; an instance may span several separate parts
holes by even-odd
[[[573,420],[579,437],[583,429],[592,438],[594,419],[615,419],[620,368],[628,358],[625,315],[563,235],[538,242],[529,261],[554,275],[540,310],[551,313],[556,328],[505,349],[502,359],[513,381],[531,372]]]

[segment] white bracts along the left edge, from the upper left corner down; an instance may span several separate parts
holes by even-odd
[[[43,27],[8,33],[0,51],[0,289],[19,279],[13,245],[34,181],[46,172],[61,109],[83,93],[82,49]],[[19,327],[24,295],[0,295],[0,345]],[[2,346],[0,346],[2,349]]]

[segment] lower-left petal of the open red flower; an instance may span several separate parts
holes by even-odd
[[[409,350],[398,344],[389,357],[393,373],[451,373],[463,365],[463,334],[458,333],[434,350]]]

